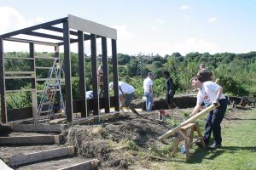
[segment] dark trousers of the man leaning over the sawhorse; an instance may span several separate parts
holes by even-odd
[[[227,110],[228,100],[220,99],[218,103],[218,108],[211,111],[207,116],[204,134],[204,141],[206,144],[209,143],[211,133],[213,134],[215,144],[221,144],[222,142],[220,123],[222,122],[225,111]]]

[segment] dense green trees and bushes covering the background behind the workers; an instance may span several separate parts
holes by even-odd
[[[36,55],[54,56],[54,53],[37,53]],[[29,57],[24,52],[5,53],[4,57]],[[61,54],[63,59],[63,54]],[[79,99],[79,59],[78,54],[71,54],[72,66],[72,83],[73,83],[73,99]],[[162,71],[170,71],[175,84],[177,93],[189,93],[191,91],[190,78],[194,77],[199,70],[198,65],[205,63],[207,68],[211,70],[216,78],[219,78],[219,84],[224,87],[225,94],[232,95],[255,95],[256,94],[256,52],[247,54],[199,54],[189,53],[182,56],[179,53],[172,55],[128,55],[118,54],[119,60],[119,81],[128,82],[136,88],[135,97],[143,96],[143,79],[147,77],[148,71],[153,71],[156,75],[154,79],[154,95],[156,97],[165,94],[165,79],[162,77]],[[99,63],[101,64],[101,63]],[[37,59],[37,66],[51,66],[52,61],[45,59]],[[4,59],[5,71],[29,71],[30,60],[22,59]],[[109,61],[110,82],[112,78],[112,65]],[[65,68],[64,68],[65,70]],[[85,58],[86,71],[86,88],[91,90],[91,63],[90,57]],[[48,71],[38,70],[37,77],[47,77]],[[249,77],[249,78],[248,78]],[[44,87],[44,84],[38,84]],[[7,89],[29,88],[31,86],[29,80],[6,80]],[[64,89],[63,89],[64,90]],[[9,97],[12,95],[12,97]],[[29,93],[8,94],[8,108],[17,108],[31,105],[27,99]],[[14,103],[13,99],[19,99]],[[22,103],[22,104],[21,104]]]

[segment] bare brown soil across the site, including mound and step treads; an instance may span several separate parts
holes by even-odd
[[[250,108],[229,109],[223,126],[236,120],[247,110]],[[184,113],[191,111],[192,108],[165,110],[165,117],[183,122]],[[160,144],[158,137],[172,128],[165,122],[156,120],[158,111],[140,112],[140,114],[141,116],[125,113],[119,118],[105,122],[70,127],[63,132],[66,138],[65,145],[75,145],[79,157],[99,159],[101,161],[99,169],[130,169],[132,165],[141,161],[140,153],[147,154],[148,148],[158,147]],[[22,135],[22,133],[9,133],[9,135]],[[6,134],[1,133],[0,136],[6,136]],[[57,146],[0,147],[0,158],[20,154],[21,150],[23,153],[24,150],[31,153],[49,147]]]

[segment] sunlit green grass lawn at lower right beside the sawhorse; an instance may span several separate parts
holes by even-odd
[[[147,162],[149,169],[256,169],[256,109],[243,111],[222,125],[223,147],[202,150],[194,146],[191,159],[178,153],[172,161]],[[144,168],[142,168],[144,169]]]

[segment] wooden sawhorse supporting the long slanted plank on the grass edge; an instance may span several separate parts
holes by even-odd
[[[197,132],[198,139],[193,141],[194,138],[194,132]],[[180,144],[183,140],[185,140],[185,150],[186,150],[186,159],[189,160],[189,148],[191,144],[195,143],[196,141],[200,140],[201,145],[203,148],[206,148],[205,142],[203,140],[203,136],[201,134],[201,129],[198,125],[198,123],[189,123],[187,125],[184,125],[177,131],[177,139],[174,143],[172,154],[177,152],[178,144]]]

